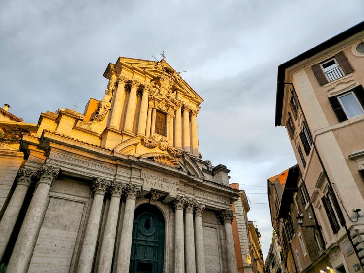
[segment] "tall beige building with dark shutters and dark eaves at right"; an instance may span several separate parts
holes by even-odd
[[[363,272],[363,79],[364,22],[278,68],[276,126],[287,128],[335,272]]]

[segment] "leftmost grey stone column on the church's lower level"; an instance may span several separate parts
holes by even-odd
[[[17,187],[10,199],[0,222],[0,260],[4,255],[5,248],[13,232],[21,206],[23,205],[25,195],[27,194],[31,178],[35,175],[31,169],[20,168],[17,173]]]

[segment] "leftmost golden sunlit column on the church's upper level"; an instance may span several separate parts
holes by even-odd
[[[113,99],[113,109],[111,111],[110,127],[120,129],[121,113],[125,92],[125,84],[128,81],[124,76],[119,75],[117,78],[117,89],[115,91]]]

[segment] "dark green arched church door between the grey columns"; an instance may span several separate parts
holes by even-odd
[[[163,272],[165,221],[161,211],[150,204],[135,209],[132,231],[130,273]]]

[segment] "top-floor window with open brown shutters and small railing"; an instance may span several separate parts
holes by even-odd
[[[326,60],[321,64],[314,64],[311,68],[320,85],[337,80],[354,71],[344,52],[337,53],[334,58]]]

